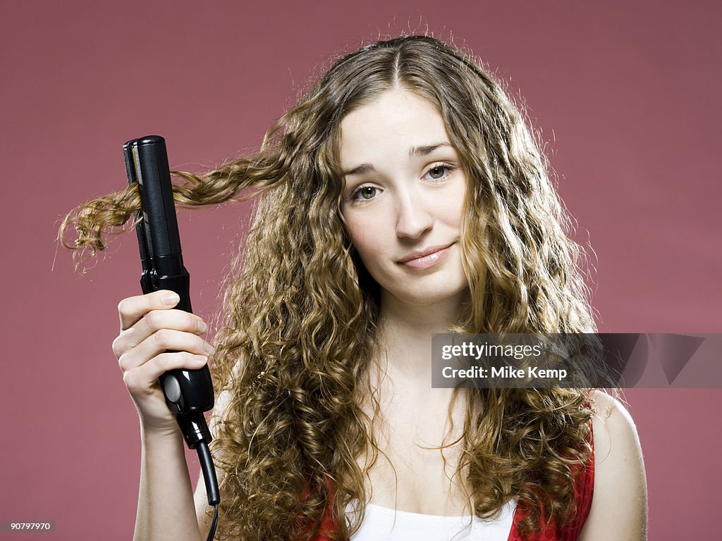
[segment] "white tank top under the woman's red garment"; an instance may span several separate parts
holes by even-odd
[[[441,516],[396,511],[366,504],[366,516],[350,541],[507,541],[517,498],[502,507],[495,520],[478,516]]]

